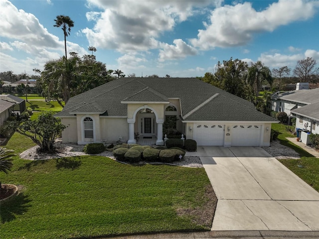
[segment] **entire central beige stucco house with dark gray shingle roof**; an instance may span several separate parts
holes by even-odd
[[[156,138],[163,145],[162,126],[176,117],[176,129],[197,145],[269,146],[271,123],[278,121],[254,105],[196,78],[126,78],[72,97],[55,115],[68,125],[63,142],[136,143]]]

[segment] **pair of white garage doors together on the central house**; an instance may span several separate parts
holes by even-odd
[[[201,146],[260,146],[261,136],[260,124],[233,124],[226,129],[225,124],[194,123],[193,139]]]

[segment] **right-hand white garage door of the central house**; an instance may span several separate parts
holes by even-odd
[[[261,125],[236,124],[231,128],[231,146],[260,146]]]

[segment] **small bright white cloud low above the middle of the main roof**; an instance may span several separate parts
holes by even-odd
[[[190,45],[187,45],[181,39],[173,41],[175,45],[161,43],[162,50],[160,50],[159,61],[183,59],[188,55],[196,55],[197,50]]]

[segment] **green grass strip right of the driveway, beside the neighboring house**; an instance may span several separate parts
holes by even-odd
[[[314,157],[302,147],[289,141],[286,137],[296,136],[287,131],[286,126],[281,123],[273,123],[272,129],[279,133],[278,139],[280,143],[298,152],[301,159],[280,159],[279,161],[319,192],[319,158]]]

